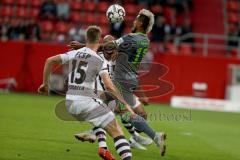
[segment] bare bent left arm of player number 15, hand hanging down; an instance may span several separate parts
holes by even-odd
[[[42,85],[38,88],[38,93],[40,94],[47,94],[48,93],[48,80],[49,76],[51,73],[52,66],[54,64],[61,64],[61,56],[56,55],[53,57],[50,57],[46,60],[44,70],[43,70],[43,83]]]

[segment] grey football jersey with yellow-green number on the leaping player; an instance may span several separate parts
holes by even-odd
[[[147,53],[150,41],[146,34],[130,33],[115,41],[118,57],[114,69],[114,81],[138,85],[137,70]]]

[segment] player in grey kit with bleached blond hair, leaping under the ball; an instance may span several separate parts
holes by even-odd
[[[139,87],[137,70],[150,43],[146,34],[151,31],[153,23],[154,15],[142,9],[134,21],[132,33],[101,46],[101,50],[106,52],[117,49],[113,82],[131,106],[135,103],[133,92]],[[82,45],[73,44],[71,47],[79,48]],[[137,130],[147,134],[160,148],[163,156],[166,150],[166,134],[154,131],[141,116],[132,117],[122,103],[119,102],[118,106],[122,121],[131,123]]]

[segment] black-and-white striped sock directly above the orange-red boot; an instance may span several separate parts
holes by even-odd
[[[106,138],[105,130],[102,128],[95,127],[93,128],[93,132],[97,137],[99,148],[101,147],[101,148],[108,149],[107,143],[106,143],[107,138]]]

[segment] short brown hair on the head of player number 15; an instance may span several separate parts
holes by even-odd
[[[98,26],[89,26],[86,30],[86,40],[88,43],[98,43],[102,30]]]

